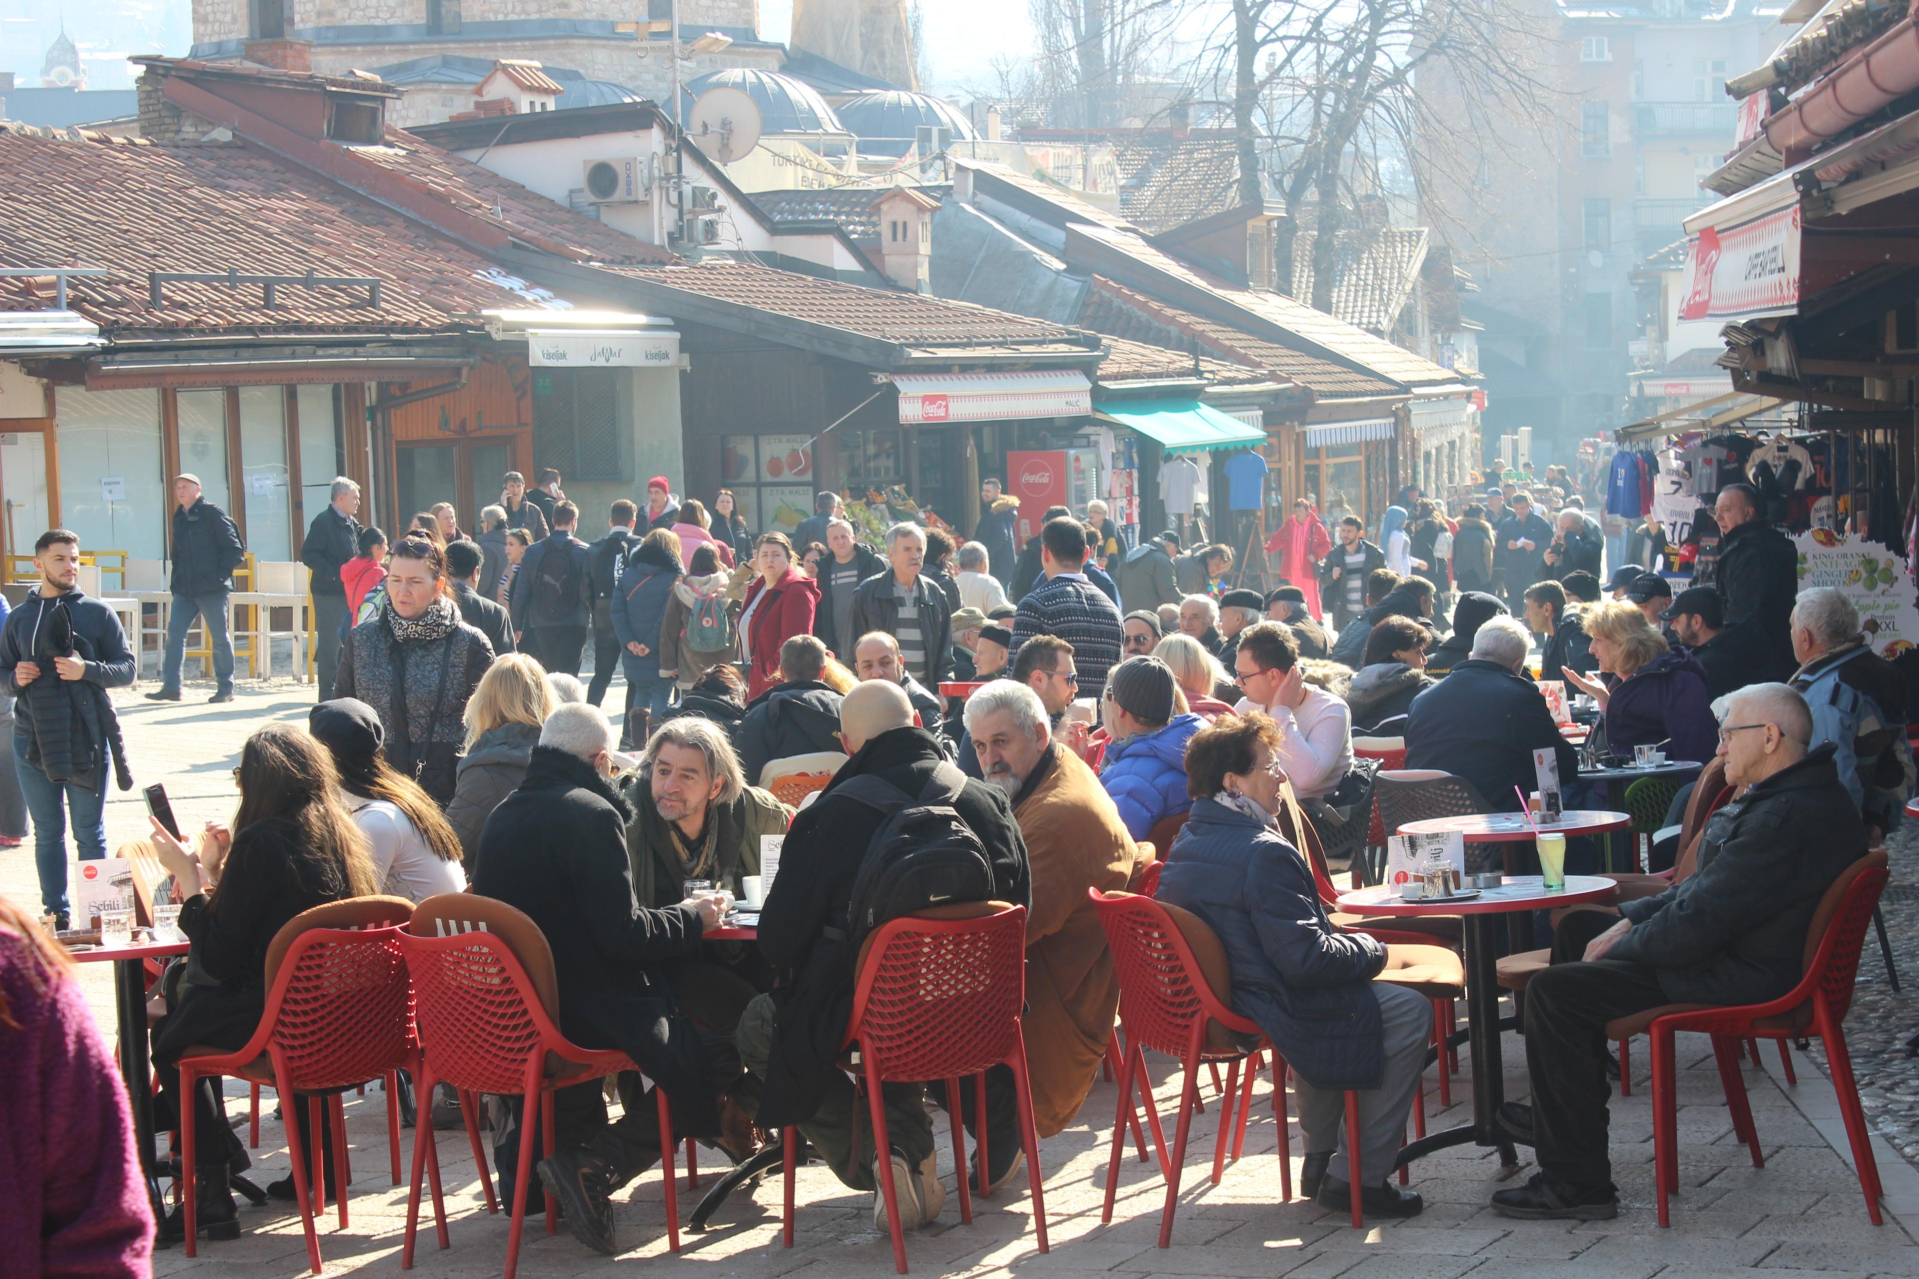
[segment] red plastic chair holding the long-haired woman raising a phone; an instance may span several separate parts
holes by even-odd
[[[347,1225],[345,1116],[340,1093],[386,1078],[388,1137],[393,1185],[399,1185],[399,1085],[393,1072],[418,1058],[413,1035],[413,993],[399,955],[399,924],[413,903],[405,897],[349,897],[290,919],[267,945],[267,1007],[246,1047],[188,1049],[180,1058],[180,1097],[192,1097],[207,1076],[271,1083],[286,1116],[286,1152],[294,1164],[294,1197],[307,1233],[307,1260],[320,1273],[315,1218],[326,1212],[322,1112],[332,1114],[334,1166],[340,1177],[340,1227]],[[315,1135],[311,1187],[307,1152],[292,1108],[307,1099]],[[180,1204],[186,1214],[186,1256],[196,1256],[198,1193],[194,1187],[194,1124],[180,1124]]]

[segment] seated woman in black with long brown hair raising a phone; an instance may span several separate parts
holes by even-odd
[[[380,892],[332,756],[305,729],[259,729],[240,750],[234,780],[240,811],[232,826],[209,823],[194,851],[152,821],[159,861],[186,895],[180,932],[192,943],[188,963],[169,970],[169,978],[180,974],[169,982],[171,1012],[154,1026],[157,1112],[165,1116],[157,1122],[161,1129],[194,1124],[198,1225],[207,1239],[240,1237],[228,1174],[246,1168],[248,1154],[211,1080],[194,1087],[190,1105],[180,1103],[178,1060],[194,1045],[230,1051],[253,1037],[267,1009],[267,947],[290,919]],[[305,1116],[305,1106],[288,1108]],[[269,1189],[292,1198],[292,1177]],[[184,1210],[159,1235],[184,1239]]]

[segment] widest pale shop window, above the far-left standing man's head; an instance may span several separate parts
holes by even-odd
[[[56,416],[59,522],[81,535],[81,550],[165,558],[173,502],[161,474],[159,391],[59,387]],[[40,533],[25,537],[27,546]]]

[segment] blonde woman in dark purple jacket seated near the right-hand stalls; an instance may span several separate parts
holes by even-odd
[[[1685,648],[1670,646],[1629,600],[1593,604],[1581,625],[1593,642],[1597,677],[1560,671],[1606,709],[1606,748],[1660,746],[1671,759],[1704,763],[1718,752],[1718,721],[1706,671]]]

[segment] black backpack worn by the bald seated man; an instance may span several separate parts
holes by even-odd
[[[887,920],[954,901],[992,901],[986,846],[954,809],[965,773],[938,763],[919,798],[877,777],[854,777],[835,796],[881,815],[865,846],[846,903],[846,943],[854,949]]]

